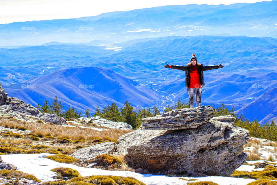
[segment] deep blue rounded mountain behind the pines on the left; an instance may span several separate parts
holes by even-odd
[[[89,108],[117,103],[122,107],[127,100],[132,106],[153,106],[159,100],[156,92],[133,80],[122,77],[106,68],[83,67],[55,71],[35,77],[20,84],[3,86],[8,96],[17,97],[37,106],[47,100],[52,102],[57,95],[65,110],[74,106],[82,113]],[[135,109],[138,110],[138,109]]]

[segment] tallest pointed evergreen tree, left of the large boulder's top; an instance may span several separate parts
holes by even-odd
[[[120,108],[121,120],[134,128],[138,125],[136,124],[136,112],[133,112],[133,107],[128,101],[124,103],[124,107]]]

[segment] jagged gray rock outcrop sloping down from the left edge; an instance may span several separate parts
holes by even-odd
[[[54,114],[41,113],[37,108],[33,107],[31,104],[26,104],[24,101],[9,97],[7,93],[4,92],[0,84],[0,108],[3,110],[1,112],[11,111],[13,115],[18,116],[34,116],[46,122],[51,122],[56,125],[65,125],[66,120],[63,117]]]

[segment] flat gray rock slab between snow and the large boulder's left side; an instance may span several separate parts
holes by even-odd
[[[104,142],[90,147],[81,148],[70,156],[75,159],[80,159],[81,161],[88,161],[95,158],[98,155],[113,153],[115,151],[114,142]]]

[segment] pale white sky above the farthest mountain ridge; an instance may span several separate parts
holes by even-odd
[[[271,1],[271,0],[266,0]],[[226,0],[233,3],[255,3],[259,0]],[[126,11],[165,5],[222,4],[219,0],[0,0],[0,24],[50,19],[96,16],[105,12]]]

